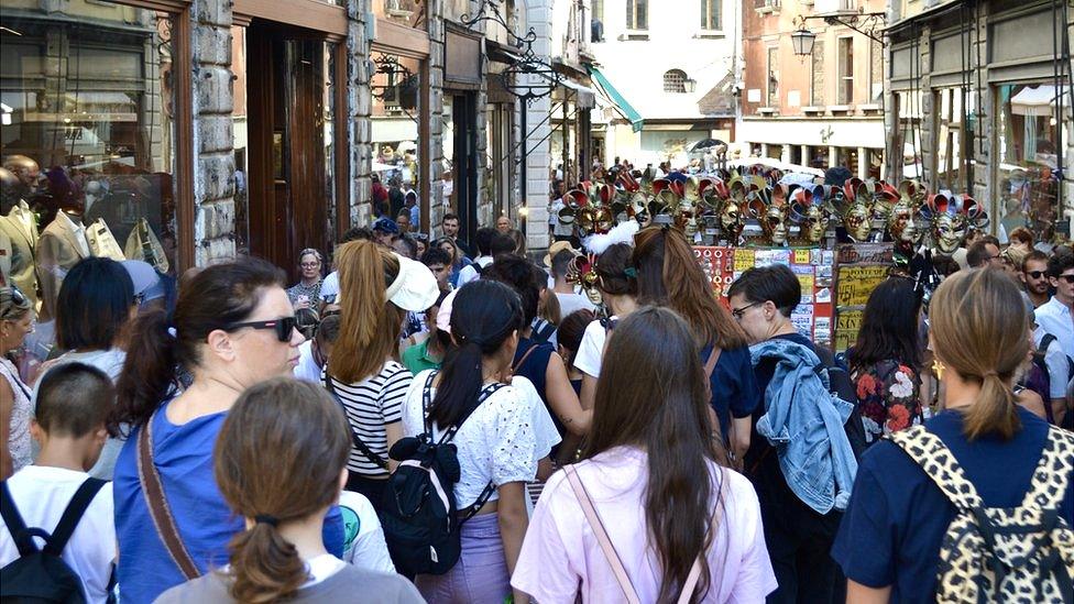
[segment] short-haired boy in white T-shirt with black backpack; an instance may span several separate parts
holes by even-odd
[[[31,426],[41,453],[0,483],[0,600],[109,601],[112,485],[87,471],[105,446],[114,398],[108,375],[83,363],[42,377]]]

